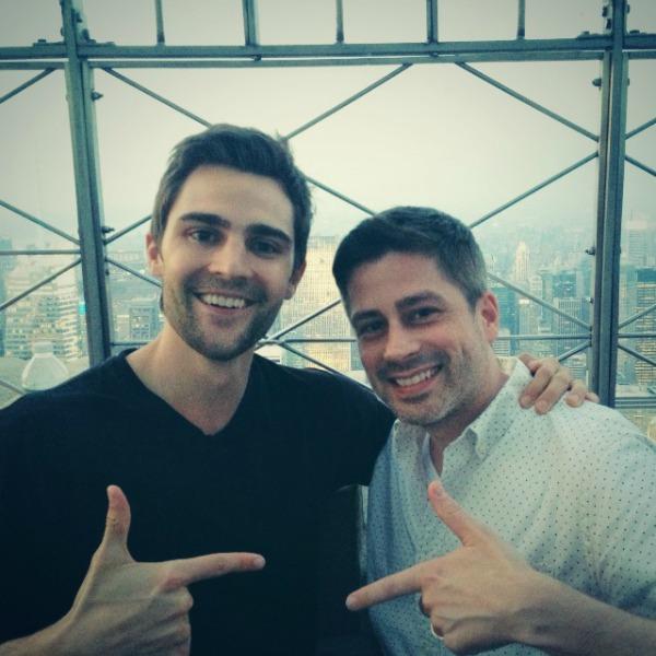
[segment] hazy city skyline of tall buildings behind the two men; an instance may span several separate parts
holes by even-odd
[[[525,221],[515,232],[514,239],[508,238],[507,230],[477,232],[490,272],[516,288],[511,289],[494,279],[490,281],[502,314],[501,335],[494,349],[502,355],[528,351],[537,356],[560,356],[572,351],[566,359],[567,366],[575,377],[587,380],[589,354],[582,345],[588,339],[589,330],[567,316],[586,326],[591,320],[594,258],[586,254],[590,247],[589,231],[576,222],[563,229]],[[302,321],[338,298],[331,263],[339,239],[339,236],[311,238],[304,280],[295,298],[283,306],[271,335]],[[622,243],[620,320],[656,304],[656,220],[630,213]],[[0,250],[12,247],[11,239],[0,237]],[[113,250],[112,258],[147,273],[142,249]],[[70,261],[65,256],[1,257],[0,304],[24,293]],[[108,269],[108,280],[114,342],[139,344],[155,337],[163,320],[159,289],[115,266]],[[517,290],[525,290],[529,297]],[[656,359],[656,338],[653,337],[656,311],[640,316],[629,325],[629,330],[632,336],[644,332],[652,337],[624,338],[621,343]],[[320,362],[364,380],[358,348],[351,338],[349,323],[341,306],[337,305],[284,335],[283,339],[289,340],[289,345],[296,352],[278,345],[265,345],[260,352],[292,366],[312,366],[313,361]],[[44,340],[52,343],[55,354],[67,363],[71,373],[87,366],[79,267],[57,276],[0,312],[0,378],[20,385],[20,372],[32,356],[33,344]],[[656,397],[656,367],[620,350],[618,397],[652,396]],[[11,390],[0,387],[0,406],[14,397]],[[653,407],[623,411],[643,431],[656,437]]]

